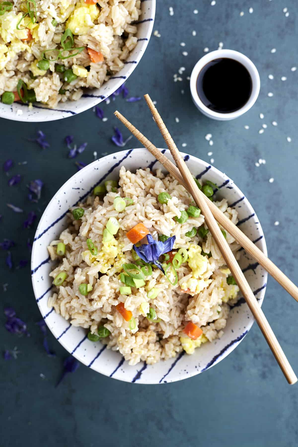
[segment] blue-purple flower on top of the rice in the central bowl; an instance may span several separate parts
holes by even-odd
[[[172,250],[176,236],[169,237],[167,240],[162,242],[161,240],[154,240],[151,234],[147,235],[148,244],[143,244],[137,247],[133,246],[134,251],[137,255],[147,263],[153,262],[155,266],[159,268],[164,274],[164,269],[159,262],[159,256],[164,253],[168,253]]]

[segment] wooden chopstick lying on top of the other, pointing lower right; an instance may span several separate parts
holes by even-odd
[[[218,227],[218,224],[214,219],[210,211],[210,208],[206,204],[205,198],[203,197],[204,194],[201,192],[201,190],[199,190],[199,188],[197,188],[197,185],[193,179],[192,174],[190,173],[185,161],[183,160],[180,152],[178,151],[176,144],[174,143],[168,129],[164,125],[164,122],[161,119],[149,95],[145,95],[145,100],[147,102],[149,109],[151,110],[153,117],[155,118],[155,122],[159,127],[159,130],[163,135],[165,142],[167,143],[167,146],[172,154],[172,157],[176,162],[180,174],[182,175],[186,185],[188,186],[189,192],[193,196],[193,199],[196,202],[197,206],[201,208],[201,211],[205,217],[206,224],[215,240],[215,243],[217,244],[220,252],[222,253],[223,258],[227,263],[227,266],[230,268],[231,273],[233,274],[233,277],[235,278],[239,286],[239,289],[241,290],[243,297],[245,298],[248,307],[252,312],[252,315],[255,317],[256,322],[258,323],[267,343],[269,344],[270,349],[273,352],[274,357],[277,360],[277,363],[281,368],[281,371],[284,373],[289,384],[296,383],[298,379],[290,363],[288,362],[288,359],[285,357],[285,354],[281,349],[281,346],[278,343],[277,338],[273,333],[273,330],[271,329],[268,321],[266,320],[264,312],[257,303],[256,297],[252,293],[252,290],[249,287],[249,284],[242,270],[240,269],[240,266],[236,261],[220,228]]]

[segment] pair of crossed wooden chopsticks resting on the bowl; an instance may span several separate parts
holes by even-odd
[[[244,249],[248,251],[264,268],[272,274],[273,278],[275,278],[284,288],[287,290],[290,295],[292,295],[298,301],[298,288],[290,281],[289,278],[285,276],[274,264],[271,262],[265,255],[258,249],[249,239],[245,236],[239,228],[237,228],[231,221],[212,203],[208,198],[206,198],[205,194],[203,194],[199,188],[197,187],[192,174],[190,173],[185,161],[183,160],[180,152],[178,151],[176,144],[174,143],[168,129],[165,127],[163,120],[161,119],[158,111],[155,108],[155,105],[151,101],[149,95],[145,95],[145,100],[151,113],[155,119],[157,126],[161,134],[164,137],[165,142],[172,154],[172,157],[176,163],[176,166],[168,160],[166,156],[164,156],[141,132],[139,132],[126,118],[124,118],[118,111],[115,111],[114,114],[119,118],[119,120],[131,131],[131,133],[139,139],[139,141],[151,152],[155,158],[164,165],[164,167],[168,170],[169,173],[173,175],[180,183],[183,185],[193,196],[194,201],[197,206],[201,209],[202,214],[205,217],[205,222],[216,242],[218,248],[220,249],[223,258],[225,259],[227,266],[231,270],[233,277],[235,278],[239,289],[241,290],[243,297],[245,298],[248,307],[250,308],[252,315],[255,317],[267,343],[269,344],[270,349],[273,352],[274,357],[277,360],[277,363],[281,367],[282,372],[284,373],[289,384],[294,384],[297,382],[297,377],[290,366],[287,358],[281,346],[279,345],[277,338],[275,337],[273,330],[271,329],[264,312],[260,308],[257,303],[256,297],[254,296],[249,284],[240,269],[238,262],[236,261],[227,241],[220,228],[218,227],[218,223],[222,225],[223,228],[227,230],[237,240],[237,242],[243,246]],[[216,220],[215,220],[215,219]]]

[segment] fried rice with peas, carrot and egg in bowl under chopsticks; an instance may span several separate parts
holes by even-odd
[[[117,186],[108,182],[104,197],[93,194],[79,203],[84,211],[83,215],[74,212],[79,219],[75,220],[72,208],[67,215],[68,228],[48,247],[51,259],[59,261],[50,273],[53,278],[59,275],[54,279],[59,286],[48,305],[72,325],[88,329],[91,342],[100,339],[108,348],[119,350],[130,365],[156,363],[183,349],[193,354],[202,343],[222,336],[229,304],[237,301],[239,288],[207,232],[204,216],[194,207],[189,211],[192,198],[173,177],[160,170],[153,175],[149,169],[134,174],[122,166]],[[126,206],[116,205],[116,197],[126,198]],[[226,199],[214,203],[237,223],[237,211],[228,207]],[[188,217],[181,219],[184,214]],[[110,222],[116,225],[116,233]],[[133,286],[134,279],[129,276],[133,270],[127,264],[139,262],[139,269],[143,264],[136,260],[127,233],[137,224],[143,224],[155,241],[166,243],[167,237],[176,237],[172,252],[160,256],[159,261],[166,270],[170,255],[176,253],[177,280],[171,265],[167,277],[151,263],[143,283]],[[115,233],[111,237],[107,237],[107,227]],[[237,257],[239,245],[230,234],[226,237]],[[142,246],[145,243],[146,238],[140,241]],[[57,255],[58,244],[62,256]],[[186,253],[186,262],[185,256],[177,257],[178,250]],[[189,326],[196,336],[186,330]]]

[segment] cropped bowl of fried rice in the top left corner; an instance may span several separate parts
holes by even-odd
[[[106,100],[138,65],[155,0],[0,3],[0,117],[51,121]]]

